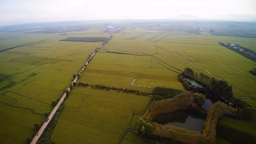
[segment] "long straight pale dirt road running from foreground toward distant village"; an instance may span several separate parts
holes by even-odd
[[[112,37],[112,36],[113,36],[113,32],[111,33],[111,37]],[[108,41],[110,41],[110,39],[109,39]],[[105,44],[102,44],[102,45],[97,49],[97,51],[98,51],[103,45],[105,45]],[[92,53],[92,56],[91,56],[90,58],[92,58],[92,57],[94,56],[94,54],[95,54],[95,52]],[[88,61],[86,61],[85,64],[87,65],[87,64],[88,64]],[[80,70],[80,74],[83,72],[84,68],[85,68],[85,67],[83,66],[82,69]],[[76,78],[74,79],[74,81],[71,81],[71,82],[72,82],[71,84],[73,85],[73,82],[76,83],[77,79],[78,79],[78,77],[76,76]],[[70,88],[68,88],[68,91],[70,92]],[[51,114],[48,116],[48,118],[49,118],[48,121],[47,121],[47,122],[44,122],[44,124],[41,126],[41,128],[40,128],[39,131],[37,132],[38,135],[36,135],[36,136],[33,138],[33,140],[31,141],[30,144],[36,144],[36,141],[39,139],[39,137],[40,137],[41,134],[43,133],[43,131],[44,131],[44,129],[46,128],[47,124],[51,121],[52,116],[55,114],[55,112],[56,112],[57,109],[59,108],[60,104],[63,102],[63,100],[64,100],[64,98],[66,97],[66,95],[67,95],[66,93],[64,93],[64,94],[62,95],[62,97],[60,98],[59,102],[58,102],[57,105],[53,108]]]

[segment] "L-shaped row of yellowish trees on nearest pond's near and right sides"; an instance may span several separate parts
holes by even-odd
[[[164,127],[161,124],[157,124],[155,122],[152,122],[152,126],[154,127],[153,134],[160,136],[160,138],[171,138],[175,142],[183,142],[183,143],[195,143],[195,144],[214,144],[215,143],[215,137],[216,137],[216,125],[217,122],[224,114],[228,106],[220,101],[213,104],[213,106],[209,109],[207,114],[207,119],[204,123],[203,127],[203,133],[200,134],[199,132],[190,131],[188,129],[183,129],[181,127],[176,126],[166,126]],[[140,122],[139,122],[140,121]],[[143,119],[141,117],[138,121],[138,127],[142,128],[143,125],[148,125],[146,128],[147,134],[150,135],[152,132],[152,129],[150,128],[151,124],[147,124],[147,119]],[[150,125],[150,126],[149,126]],[[145,128],[145,127],[144,127]],[[143,130],[144,130],[143,128]],[[141,132],[141,130],[140,130]]]

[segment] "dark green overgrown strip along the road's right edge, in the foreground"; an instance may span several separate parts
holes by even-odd
[[[51,141],[52,132],[57,125],[57,122],[59,120],[60,114],[64,109],[64,101],[60,104],[59,108],[57,109],[56,113],[52,116],[51,121],[47,124],[47,126],[44,129],[44,132],[41,134],[40,138],[37,141],[37,144],[54,144]]]

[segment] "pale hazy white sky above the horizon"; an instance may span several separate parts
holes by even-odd
[[[256,20],[256,0],[0,0],[0,26],[66,20]]]

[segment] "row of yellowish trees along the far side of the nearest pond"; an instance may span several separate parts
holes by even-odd
[[[179,94],[172,99],[153,101],[143,116],[146,120],[152,122],[158,115],[171,113],[177,110],[187,110],[192,103],[192,94]]]

